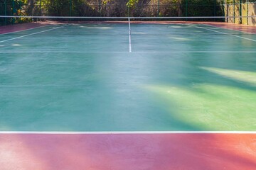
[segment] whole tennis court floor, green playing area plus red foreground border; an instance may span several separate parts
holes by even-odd
[[[1,164],[255,169],[251,30],[88,21],[2,33]]]

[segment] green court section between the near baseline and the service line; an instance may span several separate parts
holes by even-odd
[[[1,130],[256,129],[254,53],[7,53],[0,60]]]

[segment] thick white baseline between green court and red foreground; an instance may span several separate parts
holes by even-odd
[[[102,131],[102,132],[58,132],[58,131],[0,131],[0,134],[42,135],[135,135],[135,134],[251,134],[256,131]]]

